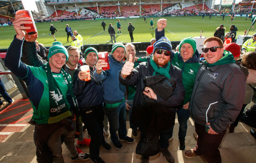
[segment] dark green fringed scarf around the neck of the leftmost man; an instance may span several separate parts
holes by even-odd
[[[67,100],[63,98],[63,94],[59,85],[53,77],[53,73],[51,71],[51,67],[49,62],[43,65],[45,72],[47,74],[47,81],[49,85],[49,119],[48,124],[53,124],[60,122],[62,119],[72,116],[70,108],[67,105]],[[78,108],[78,104],[76,98],[74,96],[74,92],[72,89],[72,80],[63,69],[61,69],[61,74],[64,79],[67,81],[68,91],[73,99],[74,106]],[[55,110],[55,111],[52,111]]]

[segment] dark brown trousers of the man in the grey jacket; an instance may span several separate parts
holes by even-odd
[[[198,135],[195,148],[193,149],[195,154],[202,155],[208,163],[221,163],[222,158],[218,147],[226,131],[224,130],[217,135],[211,135],[205,131],[204,126],[195,123],[195,132]]]

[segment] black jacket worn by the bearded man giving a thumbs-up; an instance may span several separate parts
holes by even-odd
[[[175,123],[177,108],[182,105],[185,97],[182,72],[178,67],[171,65],[169,74],[171,78],[176,80],[176,88],[173,91],[173,95],[167,100],[157,95],[157,100],[150,98],[150,102],[146,102],[143,98],[145,88],[143,78],[152,76],[154,72],[155,70],[149,61],[140,63],[125,79],[121,77],[121,71],[119,72],[119,81],[122,85],[137,86],[131,122],[147,135],[159,135],[162,130],[172,127]],[[162,111],[160,112],[160,110]]]

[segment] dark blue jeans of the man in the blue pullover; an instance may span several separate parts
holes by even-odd
[[[125,101],[115,108],[104,108],[105,113],[108,117],[109,132],[112,143],[117,143],[118,137],[116,131],[118,130],[119,138],[126,138],[126,111]]]

